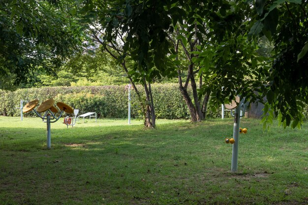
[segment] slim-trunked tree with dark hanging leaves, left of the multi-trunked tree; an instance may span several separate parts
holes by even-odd
[[[84,7],[89,15],[95,13],[89,21],[91,25],[89,30],[93,31],[92,39],[119,61],[135,91],[137,91],[135,83],[143,85],[146,94],[144,105],[147,127],[155,127],[151,83],[154,78],[171,77],[176,74],[174,69],[170,69],[172,65],[168,64],[170,61],[161,61],[166,59],[165,51],[169,49],[169,42],[165,39],[166,33],[161,28],[169,27],[170,17],[163,9],[163,2],[158,1],[157,6],[154,6],[155,9],[151,6],[133,0],[98,1],[96,4],[89,2]],[[130,24],[132,19],[133,24]],[[169,21],[161,25],[165,20]],[[99,25],[97,29],[96,25]],[[153,35],[148,35],[149,32]],[[127,58],[135,62],[130,68],[126,67]]]

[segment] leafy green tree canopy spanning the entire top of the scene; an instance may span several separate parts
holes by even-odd
[[[199,96],[210,90],[217,105],[236,95],[262,102],[269,113],[265,123],[278,116],[284,126],[296,127],[308,103],[307,4],[304,0],[1,1],[0,74],[12,73],[21,82],[35,69],[53,72],[79,49],[83,32],[88,32],[95,34],[102,48],[111,46],[120,64],[125,65],[129,56],[135,64],[125,68],[128,77],[146,85],[145,80],[178,75],[180,44],[183,49],[190,47],[185,51],[189,66],[198,68],[190,80],[206,79]],[[264,36],[274,47],[273,56],[257,52]]]

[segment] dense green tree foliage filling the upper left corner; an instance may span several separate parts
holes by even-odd
[[[0,76],[15,84],[33,80],[36,70],[49,74],[81,48],[83,33],[62,2],[0,1]],[[72,4],[66,1],[66,4]],[[3,88],[3,84],[0,84]]]

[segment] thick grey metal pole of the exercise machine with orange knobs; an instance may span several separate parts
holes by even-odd
[[[241,120],[241,103],[235,108],[234,125],[233,125],[233,138],[234,144],[232,147],[232,162],[231,171],[238,171],[238,151],[239,151],[239,135],[240,135],[240,120]]]

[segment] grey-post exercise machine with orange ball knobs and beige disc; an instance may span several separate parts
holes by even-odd
[[[244,103],[245,98],[240,101],[240,97],[236,96],[235,101],[232,100],[231,103],[225,104],[225,107],[231,110],[231,115],[234,117],[234,124],[233,124],[233,138],[226,138],[226,143],[231,143],[232,147],[232,160],[231,160],[231,171],[236,172],[238,171],[238,151],[239,151],[239,134],[247,133],[247,129],[240,128],[240,121],[241,117],[245,115],[245,110],[247,108],[247,104]],[[234,114],[233,110],[234,109]]]

